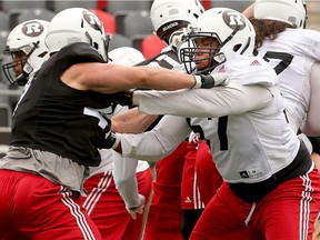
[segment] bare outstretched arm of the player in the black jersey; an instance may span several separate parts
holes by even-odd
[[[114,93],[128,89],[178,90],[204,88],[212,80],[150,66],[124,67],[112,63],[78,63],[67,69],[61,80],[71,88]],[[208,82],[207,82],[208,81]],[[211,87],[213,87],[211,86]]]

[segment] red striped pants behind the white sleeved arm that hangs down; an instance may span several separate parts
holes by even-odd
[[[152,172],[148,168],[137,173],[139,193],[149,201]],[[101,232],[103,240],[139,240],[143,214],[133,220],[128,213],[123,199],[116,189],[112,172],[92,176],[84,182],[88,197],[81,197],[82,206]]]

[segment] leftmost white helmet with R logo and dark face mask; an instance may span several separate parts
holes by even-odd
[[[24,86],[29,76],[38,70],[41,64],[49,58],[48,48],[44,44],[44,38],[48,32],[49,21],[29,20],[18,24],[9,33],[7,38],[7,47],[3,50],[4,54],[16,54],[23,52],[26,59],[8,62],[2,64],[2,70],[7,79],[20,86]],[[14,67],[21,64],[22,72],[14,72]]]

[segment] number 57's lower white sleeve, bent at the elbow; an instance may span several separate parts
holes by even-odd
[[[190,132],[191,129],[186,118],[164,116],[151,131],[139,134],[119,134],[122,156],[159,160],[178,147]]]

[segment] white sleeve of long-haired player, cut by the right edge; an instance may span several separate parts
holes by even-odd
[[[310,74],[310,106],[307,119],[303,121],[301,131],[307,136],[320,136],[320,62],[312,66]]]

